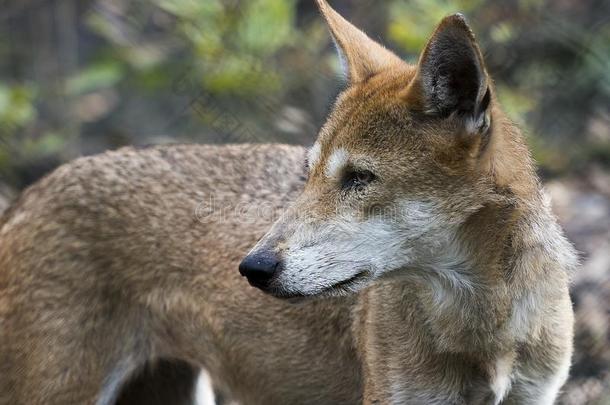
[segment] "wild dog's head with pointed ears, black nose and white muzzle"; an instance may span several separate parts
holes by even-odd
[[[318,5],[349,85],[308,153],[302,195],[240,265],[279,297],[353,292],[440,260],[510,181],[498,170],[510,157],[492,145],[507,142],[494,140],[503,124],[493,88],[463,16],[443,19],[410,65]]]

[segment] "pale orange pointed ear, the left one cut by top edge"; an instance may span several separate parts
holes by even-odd
[[[404,63],[398,56],[370,39],[341,17],[325,0],[316,0],[337,46],[348,81],[355,84]]]

